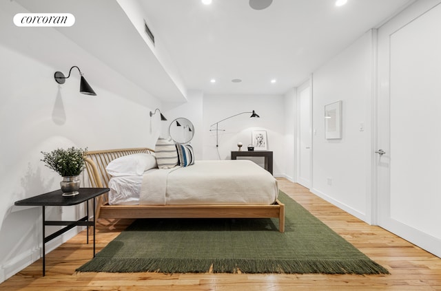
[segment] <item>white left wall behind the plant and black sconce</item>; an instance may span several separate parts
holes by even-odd
[[[41,208],[17,200],[59,188],[61,177],[43,165],[41,151],[58,147],[154,147],[148,112],[161,103],[52,28],[17,28],[17,3],[0,9],[0,282],[41,253]],[[79,72],[64,85],[54,72],[77,65],[97,96],[79,94]],[[81,207],[47,210],[48,219],[73,219]],[[48,249],[74,235],[48,244]],[[92,254],[91,254],[92,255]]]

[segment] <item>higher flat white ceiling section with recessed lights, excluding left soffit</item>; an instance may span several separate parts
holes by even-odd
[[[335,0],[274,0],[253,10],[249,0],[138,1],[187,89],[205,94],[284,94],[413,2],[348,0],[337,7]]]

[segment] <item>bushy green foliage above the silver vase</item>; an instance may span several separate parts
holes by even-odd
[[[59,173],[62,177],[76,176],[85,168],[84,160],[88,149],[71,147],[69,149],[54,149],[43,153],[45,166]]]

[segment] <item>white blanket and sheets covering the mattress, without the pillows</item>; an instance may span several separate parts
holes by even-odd
[[[196,161],[152,169],[143,176],[112,177],[109,204],[272,204],[277,180],[249,160]]]

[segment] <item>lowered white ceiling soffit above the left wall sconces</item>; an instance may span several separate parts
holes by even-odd
[[[74,25],[69,28],[54,29],[159,100],[167,103],[185,102],[185,92],[183,92],[185,90],[181,90],[181,87],[176,85],[170,72],[167,72],[161,61],[156,58],[116,0],[14,1],[29,12],[73,14]],[[136,0],[120,1],[131,3]],[[0,9],[1,5],[8,5],[8,3],[1,3]],[[20,12],[25,12],[25,10]],[[142,25],[143,23],[141,23],[141,30]],[[29,45],[34,46],[35,43]],[[105,83],[107,80],[103,76],[102,67],[94,67],[86,61],[71,63],[72,61],[67,56],[70,56],[72,51],[76,52],[70,47],[65,47],[65,52],[60,52],[60,55],[64,56],[69,65],[81,67],[81,71],[85,73],[92,87],[100,80],[100,85],[110,86]],[[57,67],[57,70],[65,72],[63,67]]]

